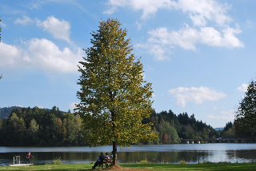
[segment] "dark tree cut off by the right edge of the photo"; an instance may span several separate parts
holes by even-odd
[[[256,137],[256,82],[248,85],[245,97],[238,105],[234,120],[235,132],[246,137]]]

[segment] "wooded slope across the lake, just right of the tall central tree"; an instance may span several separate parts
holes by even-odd
[[[159,133],[157,141],[154,144],[162,143],[179,143],[180,138],[183,139],[202,139],[219,137],[215,129],[202,121],[195,119],[194,114],[190,117],[187,113],[180,113],[178,116],[171,110],[168,112],[152,113],[150,118],[143,120],[154,121],[153,130]],[[166,140],[166,141],[163,141]]]

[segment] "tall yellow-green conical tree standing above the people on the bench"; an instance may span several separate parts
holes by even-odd
[[[134,62],[130,38],[116,19],[101,21],[93,32],[92,47],[78,71],[81,85],[77,96],[81,102],[76,111],[90,130],[90,145],[113,145],[114,165],[117,165],[117,145],[129,146],[152,141],[152,123],[142,124],[150,117],[153,91],[143,80],[140,60]]]

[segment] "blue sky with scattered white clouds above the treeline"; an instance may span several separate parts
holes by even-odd
[[[256,75],[254,0],[0,0],[0,107],[74,109],[78,62],[118,18],[142,57],[156,112],[222,127]]]

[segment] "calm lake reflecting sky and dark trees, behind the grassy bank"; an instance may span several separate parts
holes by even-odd
[[[14,156],[26,163],[26,153],[34,158],[31,163],[45,164],[60,157],[62,163],[78,164],[96,161],[100,152],[111,152],[112,146],[100,147],[0,147],[0,165],[10,165]],[[256,161],[256,144],[209,143],[177,145],[131,145],[118,148],[118,163],[135,163],[148,160],[154,163],[179,163],[181,160],[195,164],[202,161],[251,162]]]

